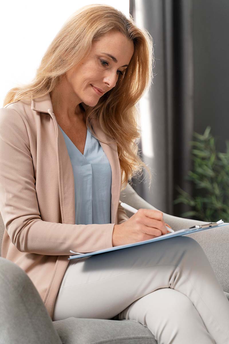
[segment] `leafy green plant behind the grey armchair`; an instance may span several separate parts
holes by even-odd
[[[183,217],[229,222],[229,141],[226,153],[217,152],[210,130],[208,126],[203,135],[194,132],[196,140],[190,142],[193,171],[185,179],[193,184],[193,196],[177,186],[180,195],[174,204],[191,206],[192,210],[183,213]]]

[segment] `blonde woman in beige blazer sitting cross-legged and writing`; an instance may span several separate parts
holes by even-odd
[[[152,79],[152,40],[106,5],[61,28],[30,85],[0,112],[2,257],[33,281],[51,316],[131,319],[158,343],[228,343],[229,304],[190,237],[68,260],[167,233],[163,213],[128,218],[121,188],[137,155],[136,103]],[[150,173],[149,169],[147,168]]]

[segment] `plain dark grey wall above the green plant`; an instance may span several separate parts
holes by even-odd
[[[193,0],[194,131],[229,140],[229,0]]]

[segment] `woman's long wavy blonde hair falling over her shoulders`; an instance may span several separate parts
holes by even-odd
[[[94,107],[87,107],[85,118],[91,130],[91,119],[97,119],[102,131],[117,143],[123,190],[132,177],[142,174],[143,167],[151,183],[151,171],[138,156],[141,133],[136,103],[152,83],[153,44],[148,31],[138,28],[131,15],[127,18],[121,11],[104,4],[91,4],[76,11],[48,46],[32,82],[10,89],[3,106],[51,92],[64,74],[88,55],[92,43],[111,30],[133,41],[134,53],[115,87],[100,97]]]

